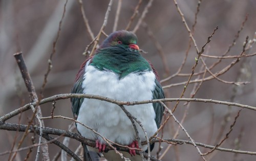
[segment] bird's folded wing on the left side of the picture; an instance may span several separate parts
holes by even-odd
[[[72,88],[71,93],[72,94],[82,94],[83,88],[82,88],[82,82],[83,82],[83,75],[85,72],[86,65],[88,64],[88,61],[90,61],[92,57],[89,57],[86,61],[84,61],[80,67],[80,70],[78,71],[75,79],[75,84]],[[83,98],[71,98],[72,103],[72,112],[74,114],[74,119],[77,119],[79,109],[82,105]]]

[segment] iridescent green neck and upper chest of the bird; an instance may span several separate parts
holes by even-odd
[[[92,60],[90,65],[100,71],[111,71],[119,75],[119,79],[130,73],[152,71],[150,64],[138,51],[102,49]]]

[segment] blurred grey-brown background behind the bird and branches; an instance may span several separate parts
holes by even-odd
[[[89,25],[96,36],[103,24],[106,9],[109,1],[82,1],[84,12],[89,20]],[[143,0],[139,14],[132,22],[130,30],[133,30],[140,18],[148,1]],[[195,13],[197,12],[198,1],[196,0],[178,0],[181,11],[184,14],[186,22],[191,29],[195,21]],[[56,39],[58,25],[63,13],[65,1],[0,1],[0,115],[3,116],[24,104],[29,103],[29,95],[26,90],[24,81],[17,68],[13,54],[19,51],[23,52],[29,73],[33,83],[40,93],[41,85],[44,81],[44,75],[47,72],[48,59],[53,51],[53,42]],[[138,1],[122,1],[120,17],[117,30],[125,29],[130,17],[134,13]],[[110,34],[113,32],[113,25],[116,15],[118,1],[114,0],[111,12],[104,32]],[[74,83],[76,73],[79,66],[86,59],[82,53],[87,45],[91,42],[91,38],[87,32],[82,18],[80,4],[78,1],[70,0],[66,6],[65,16],[62,20],[61,31],[56,43],[56,53],[52,58],[53,68],[49,74],[48,82],[44,90],[44,98],[56,94],[70,93]],[[197,24],[195,27],[194,38],[201,50],[202,45],[207,41],[207,37],[212,33],[214,28],[219,26],[215,35],[211,38],[211,42],[206,45],[204,54],[221,56],[228,49],[229,45],[240,30],[242,22],[248,14],[248,20],[244,25],[244,29],[240,32],[239,38],[234,47],[231,48],[228,55],[239,55],[243,49],[243,43],[246,36],[252,39],[256,32],[256,1],[254,0],[216,0],[202,1],[200,11],[197,16]],[[138,45],[140,49],[147,52],[142,53],[143,57],[150,60],[156,70],[159,72],[161,79],[175,74],[182,64],[188,48],[189,35],[181,20],[181,16],[177,12],[173,1],[154,1],[144,22],[136,32],[138,37]],[[152,33],[153,37],[148,33]],[[100,42],[105,36],[102,35]],[[158,44],[158,46],[156,45]],[[160,49],[160,50],[158,50]],[[159,52],[160,51],[160,52]],[[164,54],[164,63],[159,53]],[[252,46],[249,53],[256,52],[256,48]],[[194,45],[189,50],[187,61],[181,73],[190,74],[191,67],[195,63],[197,57]],[[225,59],[211,71],[213,73],[222,70],[234,59]],[[205,58],[206,64],[210,66],[217,59]],[[228,72],[220,76],[225,81],[249,81],[247,85],[236,86],[226,84],[216,79],[205,81],[202,83],[195,98],[215,99],[221,101],[232,101],[251,106],[256,106],[256,57],[241,58],[241,61],[234,65]],[[196,72],[200,70],[202,65],[199,62]],[[207,73],[206,76],[209,76]],[[191,80],[195,80],[194,76]],[[175,84],[187,81],[188,77],[175,77],[169,81],[163,82],[162,85]],[[185,98],[189,98],[194,84],[189,84],[185,92]],[[184,85],[165,88],[168,98],[178,98]],[[173,108],[176,102],[168,104]],[[43,116],[50,116],[51,103],[41,106]],[[183,117],[187,106],[181,102],[175,111],[175,116],[180,121]],[[216,145],[229,130],[229,126],[233,123],[238,107],[227,107],[225,105],[216,105],[210,103],[191,102],[186,112],[187,116],[183,126],[196,141],[209,145]],[[26,111],[22,114],[20,123],[27,124],[32,112]],[[56,103],[55,115],[61,115],[72,118],[71,103],[69,100],[60,100]],[[228,139],[221,147],[230,149],[240,149],[245,151],[256,151],[256,112],[243,109],[240,117],[237,119],[236,125],[229,134]],[[17,123],[18,116],[8,120],[7,122]],[[45,120],[47,127],[68,129],[71,122],[62,119]],[[172,138],[176,129],[176,123],[170,119],[164,128],[164,138]],[[17,140],[23,133],[20,133]],[[31,145],[30,134],[23,144],[23,147]],[[1,152],[11,149],[15,131],[0,130]],[[36,136],[38,137],[38,136]],[[37,138],[38,139],[38,138]],[[177,139],[188,140],[183,131],[180,131]],[[60,141],[63,138],[59,139]],[[72,141],[70,148],[75,150],[79,142]],[[167,144],[163,143],[162,153]],[[155,146],[153,152],[156,155],[158,146]],[[200,148],[202,152],[206,152],[204,148]],[[50,158],[60,149],[50,144]],[[28,160],[34,160],[36,148],[33,149],[32,156]],[[18,153],[16,160],[24,160],[27,151]],[[161,155],[161,154],[160,154]],[[7,160],[9,154],[1,155],[0,160]],[[235,154],[230,152],[215,151],[206,156],[207,160],[255,160],[255,155]],[[172,146],[164,155],[162,160],[202,160],[191,145]]]

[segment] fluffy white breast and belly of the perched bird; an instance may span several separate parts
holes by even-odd
[[[94,66],[87,64],[83,77],[84,94],[100,95],[119,101],[150,100],[153,98],[152,91],[156,85],[155,74],[152,71],[143,74],[131,73],[119,79],[119,76],[113,72],[99,71]],[[148,136],[157,131],[152,103],[124,107],[142,122]],[[119,144],[129,145],[136,138],[131,121],[116,104],[84,99],[77,121],[92,127],[102,136]],[[142,129],[137,127],[140,139],[144,141],[145,135]],[[82,125],[78,124],[77,129],[88,139],[99,139],[103,143],[101,137]]]

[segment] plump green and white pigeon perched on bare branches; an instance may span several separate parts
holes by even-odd
[[[111,33],[99,45],[94,56],[82,63],[72,93],[99,95],[119,101],[164,98],[157,71],[140,54],[135,33],[126,30]],[[134,126],[119,105],[88,98],[71,98],[71,103],[77,122],[89,126],[114,143],[139,148]],[[141,122],[148,137],[160,127],[164,111],[161,103],[124,107]],[[96,148],[82,144],[84,160],[99,160],[99,154],[109,161],[124,160],[114,150],[106,152],[106,142],[102,137],[79,123],[76,123],[77,131],[96,144]],[[138,124],[136,126],[140,140],[145,141],[143,130]],[[154,144],[151,144],[151,150],[153,148]],[[147,152],[146,145],[142,149]],[[134,149],[122,153],[132,161],[141,160]]]

